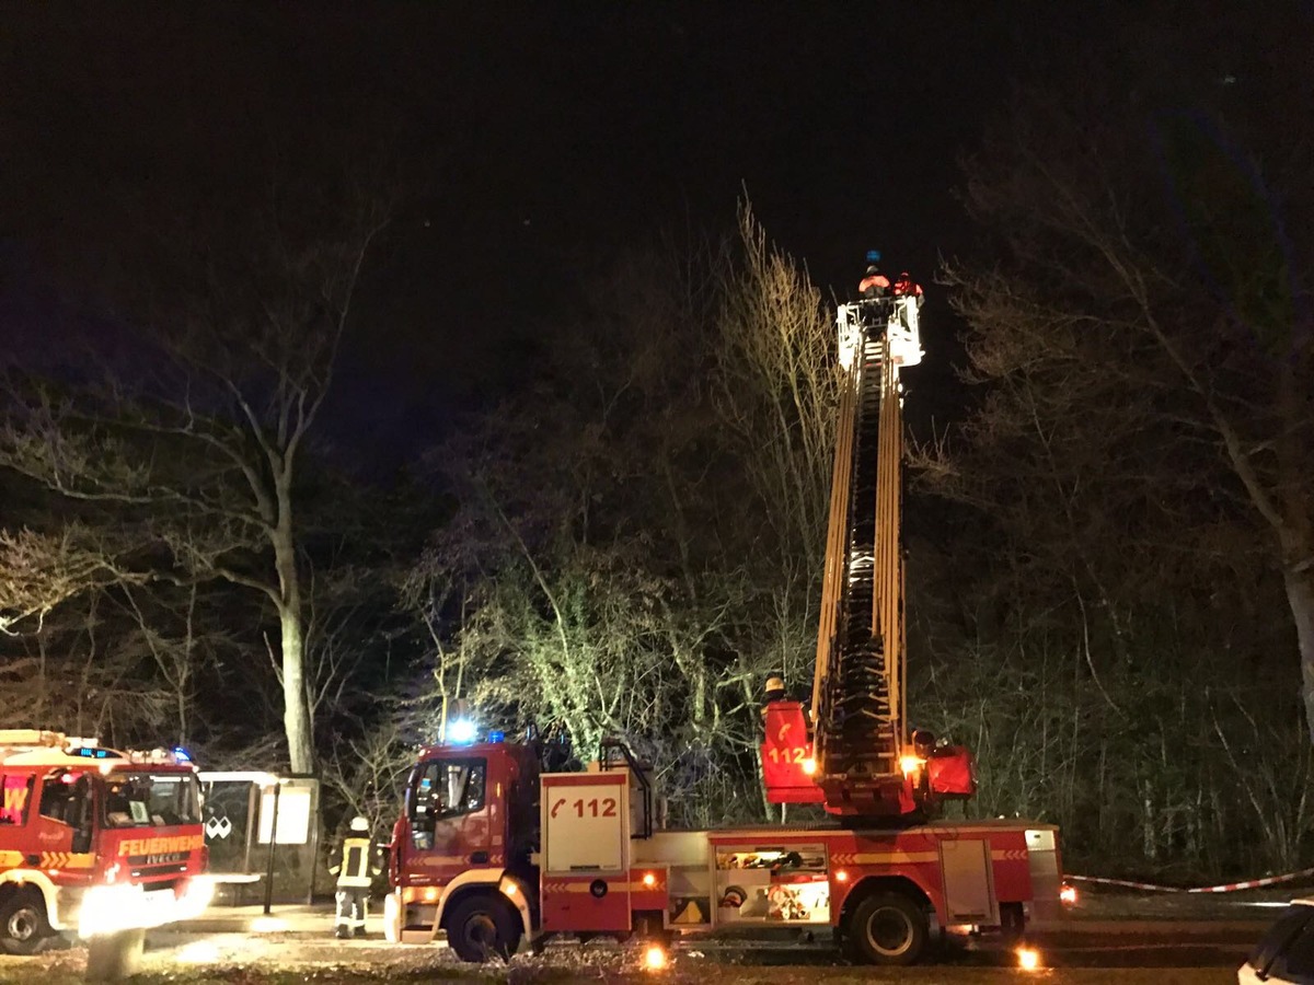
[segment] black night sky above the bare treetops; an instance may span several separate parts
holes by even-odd
[[[828,294],[851,296],[872,247],[929,282],[970,247],[959,154],[1012,77],[1101,22],[1055,7],[11,7],[3,327],[42,317],[14,315],[39,261],[13,268],[80,242],[102,180],[222,201],[280,147],[364,152],[415,193],[332,412],[356,437],[418,440],[523,370],[582,276],[661,230],[732,229],[745,189]],[[934,290],[928,314],[922,380],[947,393],[957,326]]]

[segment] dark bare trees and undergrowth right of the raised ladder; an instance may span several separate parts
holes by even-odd
[[[984,238],[943,280],[979,395],[921,449],[957,506],[912,556],[911,663],[979,756],[970,809],[1053,817],[1092,865],[1235,873],[1311,831],[1282,657],[1307,674],[1307,147],[1265,89],[1289,45],[1233,89],[1179,34],[1196,64],[1150,32],[1125,92],[1024,92],[964,159]]]

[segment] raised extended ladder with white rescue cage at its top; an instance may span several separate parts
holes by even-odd
[[[816,779],[840,814],[908,813],[903,407],[921,360],[913,298],[842,305],[840,405],[812,691]]]

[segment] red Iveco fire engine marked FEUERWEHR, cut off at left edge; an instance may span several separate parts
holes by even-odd
[[[0,947],[200,915],[212,885],[196,770],[59,732],[0,730]]]

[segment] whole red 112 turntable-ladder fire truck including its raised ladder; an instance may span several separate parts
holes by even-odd
[[[392,838],[390,940],[445,931],[463,959],[579,938],[830,927],[861,961],[912,964],[940,930],[1059,915],[1053,825],[937,821],[976,788],[968,751],[905,713],[903,394],[917,296],[841,305],[844,389],[811,705],[763,709],[767,799],[829,823],[661,830],[649,771],[604,741],[560,770],[551,735],[427,747]]]

